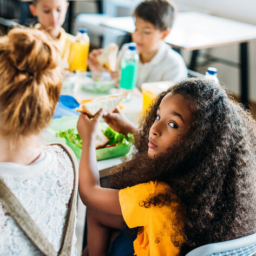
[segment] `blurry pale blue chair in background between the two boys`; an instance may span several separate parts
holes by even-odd
[[[138,0],[104,0],[103,14],[78,14],[75,18],[73,34],[80,27],[88,29],[88,35],[100,36],[103,40],[101,47],[105,47],[110,42],[120,44],[119,38],[126,35],[126,32],[117,29],[106,28],[101,25],[110,17],[117,17],[119,8],[132,10]]]

